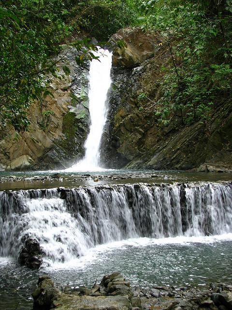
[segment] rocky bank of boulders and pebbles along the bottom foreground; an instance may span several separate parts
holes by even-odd
[[[32,293],[33,310],[232,310],[232,285],[209,287],[131,287],[119,272],[105,275],[87,287],[55,287],[51,278],[40,276]]]

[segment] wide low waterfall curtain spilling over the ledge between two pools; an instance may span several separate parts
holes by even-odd
[[[116,185],[0,192],[0,256],[37,239],[69,261],[112,241],[232,233],[232,183]]]

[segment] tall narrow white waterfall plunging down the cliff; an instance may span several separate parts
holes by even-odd
[[[66,171],[101,171],[100,144],[107,118],[107,93],[111,85],[112,53],[99,48],[94,53],[99,60],[92,60],[89,69],[90,130],[85,143],[85,157]]]

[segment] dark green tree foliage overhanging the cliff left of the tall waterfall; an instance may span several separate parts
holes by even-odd
[[[27,109],[33,100],[52,95],[46,88],[47,74],[57,76],[57,64],[68,46],[60,44],[73,28],[66,24],[73,1],[4,0],[0,1],[0,126],[12,124],[18,131],[28,130]],[[73,42],[80,57],[92,59],[95,46],[87,40]],[[51,57],[52,56],[52,57]],[[64,74],[70,69],[63,66]],[[59,76],[60,78],[60,76]],[[62,77],[61,77],[62,78]]]

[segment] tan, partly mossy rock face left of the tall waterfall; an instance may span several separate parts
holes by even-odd
[[[17,135],[8,126],[0,133],[0,170],[62,169],[84,154],[89,127],[88,63],[77,66],[75,55],[70,50],[58,63],[70,67],[69,77],[62,77],[62,71],[58,78],[49,76],[54,97],[30,106],[30,131]]]

